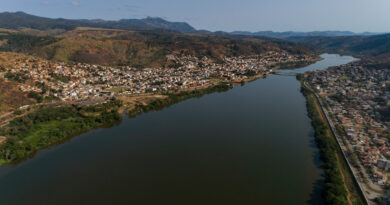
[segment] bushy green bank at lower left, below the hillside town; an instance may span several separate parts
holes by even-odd
[[[121,120],[122,103],[111,99],[93,106],[40,107],[10,121],[0,130],[7,140],[0,145],[0,166],[19,163],[53,145]]]

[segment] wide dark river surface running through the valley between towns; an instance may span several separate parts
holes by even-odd
[[[124,118],[0,168],[4,205],[321,204],[323,171],[296,73]]]

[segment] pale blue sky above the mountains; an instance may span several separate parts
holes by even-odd
[[[1,0],[0,11],[72,19],[153,16],[212,31],[390,32],[390,0]]]

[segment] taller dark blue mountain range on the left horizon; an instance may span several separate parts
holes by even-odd
[[[26,14],[24,12],[0,13],[0,28],[37,30],[63,29],[73,30],[76,27],[95,27],[125,30],[172,30],[183,33],[195,33],[196,29],[184,22],[169,22],[162,18],[148,17],[145,19],[122,19],[119,21],[105,20],[70,20],[52,19]]]

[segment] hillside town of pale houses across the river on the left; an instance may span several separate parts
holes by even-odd
[[[63,101],[81,101],[101,96],[165,93],[198,89],[220,81],[241,82],[266,75],[278,63],[311,61],[313,56],[268,52],[250,57],[225,57],[222,62],[188,55],[168,55],[174,68],[136,69],[130,66],[55,63],[26,58],[4,73],[23,75],[20,89],[54,96]],[[1,74],[1,73],[0,73]],[[5,75],[7,76],[7,75]]]

